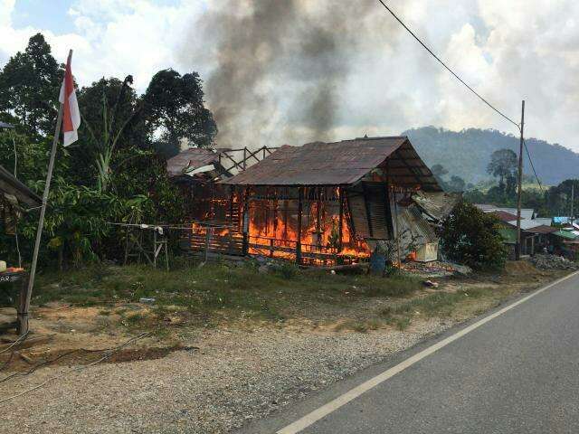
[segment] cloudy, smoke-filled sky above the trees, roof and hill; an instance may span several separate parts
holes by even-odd
[[[526,136],[579,151],[579,2],[390,0]],[[0,67],[41,32],[76,80],[198,71],[219,146],[299,145],[508,124],[375,0],[0,0]]]

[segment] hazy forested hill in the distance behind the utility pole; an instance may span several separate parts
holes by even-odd
[[[456,132],[422,127],[404,131],[403,136],[410,138],[427,165],[443,165],[449,175],[458,175],[472,184],[489,179],[487,165],[494,151],[508,148],[518,153],[518,137],[492,129]],[[555,185],[565,179],[579,178],[579,154],[536,138],[526,141],[542,183]],[[524,161],[525,173],[531,175],[528,159]]]

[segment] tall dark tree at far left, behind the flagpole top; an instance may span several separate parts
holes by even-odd
[[[62,74],[43,35],[33,35],[0,72],[0,112],[12,114],[36,136],[51,134]]]

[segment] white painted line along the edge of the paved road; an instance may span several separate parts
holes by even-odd
[[[507,307],[503,307],[502,309],[498,310],[494,314],[491,314],[489,316],[485,316],[484,318],[480,319],[476,323],[471,324],[468,327],[465,327],[462,330],[458,331],[454,335],[451,335],[451,336],[441,340],[440,342],[433,344],[432,346],[429,346],[428,348],[422,350],[420,353],[414,354],[412,357],[409,357],[408,359],[404,360],[403,362],[396,364],[394,367],[384,371],[384,373],[379,373],[374,378],[371,378],[370,380],[363,382],[359,386],[356,386],[354,389],[351,389],[348,392],[344,393],[343,395],[338,396],[335,400],[327,402],[327,404],[322,405],[317,410],[313,410],[311,413],[308,413],[303,418],[296,420],[295,422],[289,424],[285,428],[280,429],[279,431],[277,431],[277,434],[297,434],[297,433],[299,433],[303,429],[306,429],[310,425],[313,425],[318,420],[326,417],[331,412],[336,411],[337,409],[339,409],[343,405],[346,405],[348,402],[356,400],[356,398],[358,396],[362,395],[365,392],[368,392],[370,389],[375,388],[378,384],[385,382],[389,378],[394,377],[395,374],[403,372],[404,369],[408,368],[409,366],[412,366],[414,363],[421,361],[424,357],[427,357],[427,356],[431,355],[432,353],[435,353],[436,351],[440,350],[441,348],[445,347],[446,345],[451,344],[452,342],[456,341],[460,337],[467,335],[471,331],[479,328],[480,325],[487,324],[489,321],[496,318],[497,316],[503,315],[505,312],[508,312],[510,309],[525,303],[527,300],[541,294],[543,291],[546,291],[548,288],[552,288],[555,285],[558,285],[559,283],[563,282],[567,278],[572,278],[572,277],[576,276],[577,274],[579,274],[579,271],[575,271],[574,273],[572,273],[568,276],[565,276],[565,278],[559,278],[558,280],[555,280],[555,282],[550,283],[546,287],[536,290],[534,293],[528,295],[527,297],[523,297],[520,300],[516,301],[515,303],[508,305]]]

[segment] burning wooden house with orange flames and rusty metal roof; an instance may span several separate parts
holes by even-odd
[[[221,211],[205,217],[221,224],[193,231],[193,250],[311,265],[351,263],[377,247],[436,259],[433,224],[456,203],[407,137],[281,146],[244,169],[216,184],[227,189],[214,198]]]

